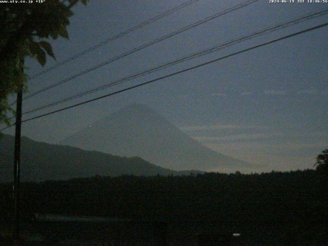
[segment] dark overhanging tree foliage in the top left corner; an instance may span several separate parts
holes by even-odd
[[[68,38],[71,8],[78,2],[47,0],[42,4],[0,5],[0,123],[10,123],[7,114],[13,110],[8,96],[27,90],[24,58],[36,58],[42,66],[46,64],[46,54],[55,58],[45,39]],[[88,2],[81,0],[84,5]]]

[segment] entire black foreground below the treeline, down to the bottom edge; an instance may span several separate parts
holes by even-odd
[[[328,245],[327,194],[327,176],[312,170],[23,183],[22,237],[34,240],[26,245]],[[3,184],[2,240],[10,197]],[[115,220],[40,221],[34,213]],[[231,244],[215,242],[233,233]]]

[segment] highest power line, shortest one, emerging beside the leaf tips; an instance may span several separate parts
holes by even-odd
[[[189,5],[192,5],[192,4],[194,4],[194,3],[198,2],[198,1],[199,0],[190,0],[190,1],[187,1],[187,2],[185,2],[183,4],[181,4],[181,5],[173,8],[173,9],[170,9],[170,10],[164,12],[164,13],[161,13],[159,15],[156,15],[155,17],[150,18],[150,19],[146,20],[145,22],[142,22],[142,23],[140,23],[140,24],[138,24],[138,25],[136,25],[136,26],[134,26],[134,27],[132,27],[132,28],[130,28],[128,30],[122,31],[119,34],[117,34],[115,36],[112,36],[112,37],[104,40],[103,42],[98,43],[97,45],[95,45],[93,47],[90,47],[90,48],[88,48],[88,49],[86,49],[84,51],[81,51],[81,52],[79,52],[79,53],[77,53],[77,54],[75,54],[75,55],[73,55],[73,56],[71,56],[71,57],[69,57],[69,58],[67,58],[67,59],[65,59],[63,61],[60,61],[60,63],[57,63],[56,65],[54,65],[54,66],[52,66],[52,67],[50,67],[48,69],[45,69],[45,70],[43,70],[43,71],[41,71],[39,73],[33,74],[30,77],[30,79],[34,79],[34,78],[36,78],[36,77],[38,77],[38,76],[40,76],[42,74],[45,74],[47,72],[50,72],[51,70],[53,70],[55,68],[58,68],[61,65],[64,65],[64,64],[68,63],[69,61],[72,61],[72,60],[74,60],[74,59],[76,59],[76,58],[78,58],[78,57],[80,57],[82,55],[85,55],[85,54],[89,53],[90,51],[93,51],[95,49],[98,49],[101,46],[104,46],[104,45],[108,44],[109,42],[112,42],[115,39],[118,39],[118,38],[120,38],[120,37],[122,37],[122,36],[124,36],[124,35],[126,35],[126,34],[128,34],[130,32],[133,32],[133,31],[135,31],[135,30],[137,30],[137,29],[139,29],[141,27],[144,27],[144,26],[146,26],[148,24],[151,24],[151,23],[155,22],[156,20],[159,20],[159,19],[161,19],[161,18],[163,18],[163,17],[165,17],[167,15],[170,15],[170,14],[172,14],[172,13],[174,13],[174,12],[180,10],[180,9],[183,9],[183,8],[189,6]]]

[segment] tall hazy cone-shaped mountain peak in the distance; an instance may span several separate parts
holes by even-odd
[[[60,141],[121,156],[140,156],[174,170],[244,171],[250,164],[217,153],[142,105],[130,105]]]

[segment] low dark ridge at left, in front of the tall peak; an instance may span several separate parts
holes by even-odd
[[[14,137],[0,139],[0,182],[12,180]],[[60,180],[94,175],[183,175],[157,167],[140,157],[120,157],[96,151],[86,151],[69,146],[50,145],[22,137],[21,179]]]

